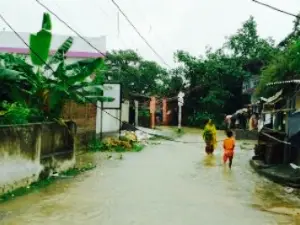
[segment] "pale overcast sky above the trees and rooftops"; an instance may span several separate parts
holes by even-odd
[[[137,50],[146,59],[157,58],[120,14],[111,0],[41,0],[84,36],[107,36],[107,49]],[[297,13],[300,0],[262,0]],[[171,66],[178,49],[194,55],[207,45],[218,48],[253,15],[262,37],[281,40],[292,30],[293,17],[272,11],[251,0],[116,0],[140,32]],[[35,0],[0,0],[0,12],[17,31],[36,32],[45,10]],[[53,18],[54,33],[73,35]],[[5,25],[0,21],[0,28]],[[7,28],[7,30],[9,30]]]

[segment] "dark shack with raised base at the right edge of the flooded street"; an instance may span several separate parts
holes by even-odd
[[[251,165],[267,177],[300,186],[300,80],[269,83],[279,91],[263,101],[263,125]],[[278,89],[277,89],[278,90]]]

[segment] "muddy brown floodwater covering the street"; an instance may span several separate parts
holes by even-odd
[[[218,139],[222,139],[219,136]],[[185,141],[201,141],[186,134]],[[1,225],[300,224],[299,194],[249,166],[253,142],[239,141],[233,168],[220,147],[162,141],[123,160],[86,156],[98,167],[0,205]]]

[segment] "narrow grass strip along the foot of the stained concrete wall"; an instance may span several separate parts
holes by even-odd
[[[85,171],[92,170],[96,167],[96,165],[88,164],[81,168],[72,168],[67,171],[64,171],[58,177],[49,177],[46,179],[38,180],[36,182],[31,183],[27,187],[20,187],[13,191],[7,192],[0,196],[0,203],[15,199],[20,196],[24,196],[33,192],[39,192],[41,189],[48,187],[56,180],[61,180],[65,176],[74,177]]]

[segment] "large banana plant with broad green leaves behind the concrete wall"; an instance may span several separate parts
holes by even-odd
[[[39,108],[50,119],[58,119],[63,105],[69,100],[82,104],[113,101],[113,98],[103,96],[103,86],[88,79],[96,70],[105,70],[104,60],[86,59],[66,64],[65,55],[73,44],[73,38],[69,37],[50,56],[51,37],[51,19],[45,13],[42,29],[30,36],[33,65],[12,54],[2,58],[0,55],[0,83],[10,82],[16,92],[13,101]]]

